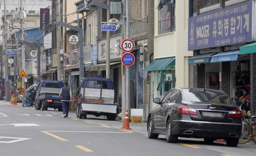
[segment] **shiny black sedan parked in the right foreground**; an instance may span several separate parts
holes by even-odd
[[[241,112],[233,98],[221,90],[203,88],[173,88],[148,115],[148,137],[166,135],[167,142],[178,137],[204,138],[205,142],[226,140],[237,146],[242,132]]]

